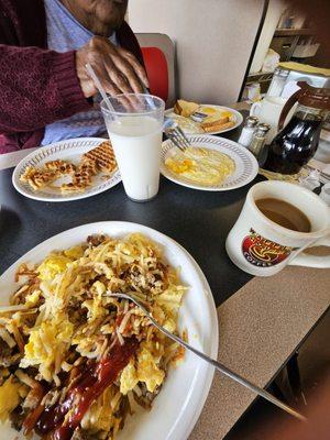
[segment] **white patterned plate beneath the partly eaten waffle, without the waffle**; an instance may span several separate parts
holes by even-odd
[[[112,188],[114,185],[121,182],[120,173],[117,169],[110,175],[110,178],[105,179],[105,174],[100,173],[94,176],[92,185],[88,187],[84,193],[62,194],[59,189],[43,188],[35,191],[29,184],[20,182],[21,175],[24,173],[28,166],[41,167],[46,162],[55,160],[68,160],[74,163],[79,163],[81,154],[88,152],[91,148],[98,146],[101,142],[105,142],[102,138],[78,138],[69,139],[67,141],[56,142],[51,145],[42,146],[35,150],[29,156],[24,157],[19,165],[15,167],[12,175],[13,186],[23,196],[35,200],[43,201],[69,201],[85,199],[97,194],[103,193],[107,189]]]

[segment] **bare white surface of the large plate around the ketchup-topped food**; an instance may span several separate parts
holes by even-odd
[[[136,223],[107,221],[84,224],[62,232],[28,252],[0,277],[1,304],[16,288],[14,274],[21,263],[37,263],[51,251],[63,250],[86,241],[87,237],[105,233],[124,237],[141,232],[154,240],[164,251],[167,262],[180,267],[182,282],[189,286],[179,312],[179,328],[188,330],[191,345],[217,359],[218,318],[213,297],[200,267],[178,243],[153,229]],[[118,440],[185,440],[189,437],[208,396],[213,367],[187,352],[184,363],[169,370],[164,386],[153,403],[152,410],[129,417]],[[1,439],[13,440],[16,432],[0,427]],[[20,439],[24,437],[21,436]],[[33,439],[34,440],[34,439]]]

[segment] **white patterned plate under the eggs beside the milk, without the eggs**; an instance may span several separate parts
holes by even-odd
[[[206,136],[200,134],[188,135],[188,139],[193,146],[216,150],[220,153],[227,154],[234,161],[235,170],[220,185],[200,185],[189,180],[179,174],[173,173],[165,165],[165,161],[175,155],[178,151],[172,141],[168,140],[163,142],[162,145],[161,172],[163,176],[167,177],[169,180],[175,182],[178,185],[187,186],[188,188],[201,189],[204,191],[228,191],[248,185],[257,175],[258,164],[256,158],[248,148],[237,142],[229,141],[224,138]]]

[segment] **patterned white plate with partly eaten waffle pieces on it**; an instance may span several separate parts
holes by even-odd
[[[23,196],[69,201],[95,196],[121,182],[109,140],[80,138],[42,146],[15,167],[12,183]]]

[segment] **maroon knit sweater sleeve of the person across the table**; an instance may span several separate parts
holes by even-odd
[[[0,44],[0,132],[33,131],[88,109],[75,52]]]

